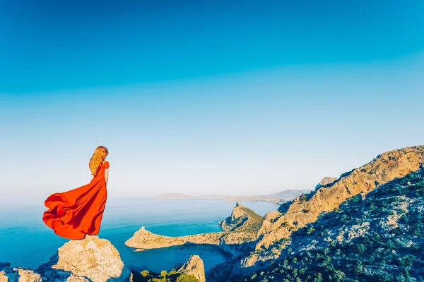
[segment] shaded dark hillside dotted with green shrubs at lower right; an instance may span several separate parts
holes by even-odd
[[[423,212],[421,168],[277,240],[278,259],[230,281],[424,281]]]

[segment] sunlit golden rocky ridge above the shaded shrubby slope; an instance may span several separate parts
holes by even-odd
[[[316,221],[320,214],[331,212],[348,198],[366,195],[384,183],[418,171],[423,164],[424,146],[396,149],[344,173],[331,184],[282,204],[278,212],[264,217],[258,232],[257,252],[242,259],[240,267],[254,266],[261,260],[278,257],[279,250],[273,246],[278,240],[288,238],[293,231]],[[264,250],[267,255],[262,254]]]

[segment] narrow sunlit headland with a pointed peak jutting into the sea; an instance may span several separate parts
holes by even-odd
[[[168,237],[153,234],[142,227],[129,240],[126,240],[125,245],[134,247],[138,251],[184,244],[216,245],[237,256],[242,252],[245,243],[257,239],[261,219],[261,216],[255,214],[251,209],[237,203],[231,216],[220,221],[224,232]]]

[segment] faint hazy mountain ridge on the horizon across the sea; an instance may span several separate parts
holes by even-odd
[[[182,193],[167,193],[155,197],[155,199],[170,200],[225,200],[228,202],[273,202],[274,204],[282,204],[288,200],[292,200],[302,194],[307,194],[311,190],[284,190],[271,195],[252,195],[252,196],[223,196],[223,195],[206,195],[192,196]]]

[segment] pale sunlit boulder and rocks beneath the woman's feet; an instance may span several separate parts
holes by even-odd
[[[8,282],[132,281],[131,271],[124,266],[117,249],[108,240],[97,236],[65,243],[49,262],[35,271],[0,264],[0,281],[5,276]]]

